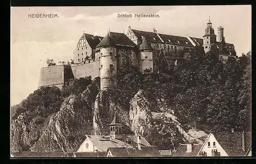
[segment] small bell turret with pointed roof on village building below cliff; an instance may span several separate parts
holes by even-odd
[[[122,124],[119,122],[117,119],[117,116],[115,115],[113,121],[110,126],[110,136],[116,139],[121,139],[122,138]]]

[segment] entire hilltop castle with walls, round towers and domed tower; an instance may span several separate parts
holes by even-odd
[[[83,33],[77,42],[71,65],[54,65],[41,68],[39,87],[62,87],[69,79],[91,76],[100,77],[100,89],[117,85],[118,70],[133,66],[139,72],[161,73],[158,57],[164,55],[168,68],[183,59],[184,52],[203,47],[205,53],[216,49],[220,59],[237,58],[234,45],[225,42],[224,28],[218,33],[212,28],[210,18],[203,38],[182,37],[139,31],[131,26],[126,33],[108,31],[105,37]],[[166,66],[165,65],[165,66]]]

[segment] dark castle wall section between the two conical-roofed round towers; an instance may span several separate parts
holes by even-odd
[[[118,48],[117,56],[118,56],[118,69],[122,69],[125,66],[131,65],[134,67],[138,67],[138,51],[134,49],[126,49],[126,48]]]

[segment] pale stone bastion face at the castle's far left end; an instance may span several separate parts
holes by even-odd
[[[64,65],[54,65],[41,68],[38,86],[63,85],[64,67]]]

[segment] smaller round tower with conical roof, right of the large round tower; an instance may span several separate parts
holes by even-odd
[[[153,72],[153,52],[151,46],[146,41],[145,37],[142,37],[142,42],[139,46],[139,71],[144,72],[145,69]]]

